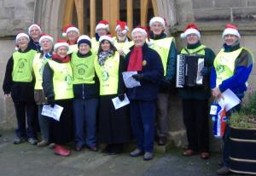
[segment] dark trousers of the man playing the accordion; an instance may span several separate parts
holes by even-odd
[[[209,151],[208,99],[183,99],[188,149]]]

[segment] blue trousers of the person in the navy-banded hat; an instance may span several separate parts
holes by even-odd
[[[96,145],[96,110],[98,99],[73,99],[76,145]]]

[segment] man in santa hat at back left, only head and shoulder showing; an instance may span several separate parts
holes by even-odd
[[[28,27],[28,35],[30,37],[30,41],[28,43],[28,48],[32,48],[38,52],[40,52],[40,44],[39,39],[42,34],[41,26],[38,24],[32,24]]]

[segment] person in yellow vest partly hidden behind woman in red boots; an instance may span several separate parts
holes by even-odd
[[[33,60],[33,71],[36,77],[34,99],[38,105],[38,122],[42,139],[42,141],[38,143],[38,146],[45,146],[49,144],[49,118],[41,115],[43,105],[46,103],[42,83],[44,65],[51,59],[53,51],[53,37],[48,34],[43,34],[39,39],[39,43],[41,53],[36,54]]]

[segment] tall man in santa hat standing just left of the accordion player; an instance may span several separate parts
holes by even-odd
[[[157,99],[157,136],[158,145],[166,145],[168,133],[168,102],[169,93],[175,88],[177,49],[173,37],[166,37],[166,21],[158,16],[149,21],[150,48],[160,54],[164,66],[164,78],[160,83],[160,93]]]

